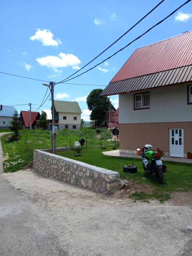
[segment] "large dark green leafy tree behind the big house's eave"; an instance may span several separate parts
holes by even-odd
[[[87,106],[89,110],[92,110],[90,119],[95,120],[97,125],[105,120],[105,114],[111,106],[110,99],[107,96],[100,96],[103,89],[94,89],[87,96]]]

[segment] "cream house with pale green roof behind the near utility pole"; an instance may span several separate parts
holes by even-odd
[[[79,130],[82,111],[78,102],[54,100],[55,114],[58,117],[59,130]]]

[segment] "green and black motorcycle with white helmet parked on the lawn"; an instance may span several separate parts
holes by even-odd
[[[137,151],[141,150],[140,148]],[[163,173],[167,171],[166,165],[163,165],[161,155],[152,150],[152,146],[147,144],[141,151],[143,159],[143,169],[147,174],[154,175],[155,181],[163,183]]]

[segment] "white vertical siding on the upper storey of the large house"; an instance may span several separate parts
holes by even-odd
[[[119,123],[192,122],[192,105],[187,105],[187,85],[143,90],[150,92],[150,109],[134,110],[134,93],[119,95]]]

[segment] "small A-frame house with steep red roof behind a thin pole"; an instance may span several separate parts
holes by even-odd
[[[21,123],[25,126],[25,129],[30,129],[30,111],[21,111],[20,112],[20,120]],[[35,126],[39,122],[40,113],[39,112],[31,112],[31,123],[32,128],[34,129]]]

